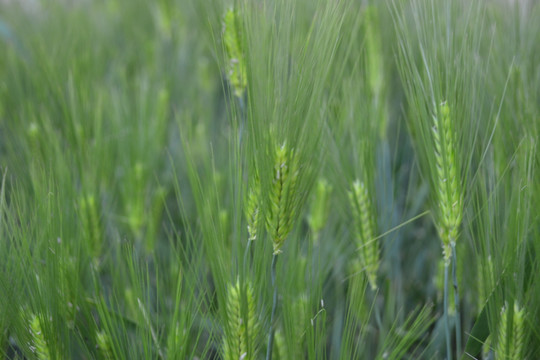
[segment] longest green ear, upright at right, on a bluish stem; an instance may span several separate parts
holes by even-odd
[[[433,140],[437,168],[436,195],[438,204],[437,230],[443,245],[444,260],[450,263],[463,216],[459,168],[455,154],[456,141],[450,108],[446,102],[439,106],[439,116],[433,118]]]

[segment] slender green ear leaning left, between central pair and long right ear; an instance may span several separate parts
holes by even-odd
[[[379,243],[374,236],[373,209],[364,182],[356,180],[349,191],[349,201],[356,225],[357,246],[360,263],[366,271],[372,290],[377,289],[377,271],[379,269]]]

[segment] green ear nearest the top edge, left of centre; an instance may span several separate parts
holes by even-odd
[[[234,94],[241,98],[247,86],[246,62],[243,52],[243,30],[240,16],[233,9],[227,10],[223,20],[223,42],[227,56],[226,71]]]

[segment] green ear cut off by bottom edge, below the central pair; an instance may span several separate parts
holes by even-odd
[[[242,300],[242,289],[245,293]],[[242,304],[246,311],[242,311]],[[227,294],[227,326],[223,344],[225,360],[254,359],[259,324],[256,315],[255,296],[253,287],[248,283],[243,288],[237,280],[229,286]]]

